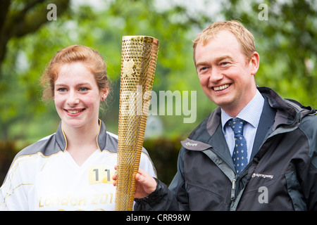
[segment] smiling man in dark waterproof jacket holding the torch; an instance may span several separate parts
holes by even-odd
[[[169,188],[140,170],[135,209],[317,210],[316,110],[256,86],[259,53],[241,23],[213,23],[193,47],[219,107],[182,141]]]

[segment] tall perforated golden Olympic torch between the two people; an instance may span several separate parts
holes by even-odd
[[[116,211],[132,210],[159,40],[124,36],[121,53]]]

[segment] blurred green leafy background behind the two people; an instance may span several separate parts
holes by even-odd
[[[148,118],[144,147],[166,184],[176,172],[180,141],[216,108],[201,90],[192,60],[192,41],[210,23],[240,20],[254,34],[261,57],[257,84],[317,108],[316,0],[1,0],[0,4],[1,183],[18,151],[56,131],[60,119],[53,101],[41,101],[39,78],[56,51],[72,44],[89,46],[106,61],[111,96],[100,117],[114,134],[118,134],[124,35],[159,39],[153,86],[158,96],[159,91],[189,95],[197,91],[194,122],[184,123],[184,113]]]

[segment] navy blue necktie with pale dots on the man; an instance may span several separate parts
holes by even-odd
[[[235,133],[235,148],[233,149],[232,160],[235,165],[235,171],[240,174],[247,166],[247,141],[243,136],[243,126],[246,122],[240,119],[230,119],[229,126]]]

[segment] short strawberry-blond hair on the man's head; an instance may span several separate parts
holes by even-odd
[[[207,44],[208,41],[213,39],[218,32],[228,30],[229,32],[232,32],[232,34],[235,35],[239,43],[241,44],[241,51],[244,53],[244,56],[246,57],[246,63],[251,59],[252,54],[254,51],[256,51],[255,43],[254,43],[254,37],[247,30],[242,23],[236,20],[230,20],[230,21],[220,21],[213,23],[206,27],[205,30],[203,30],[196,40],[194,40],[193,49],[194,49],[194,63],[196,64],[195,60],[195,52],[197,44],[201,43],[203,45]]]

